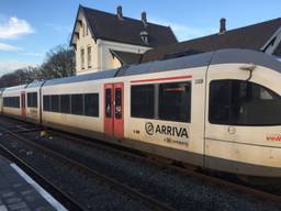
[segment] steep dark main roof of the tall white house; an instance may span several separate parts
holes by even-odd
[[[120,20],[116,14],[82,5],[79,7],[76,24],[78,22],[80,12],[85,14],[89,29],[92,32],[95,41],[101,38],[105,41],[114,41],[148,47],[168,45],[178,42],[169,26],[148,22],[147,26],[145,27],[142,20],[126,16],[123,16],[123,20]],[[76,33],[76,24],[71,36],[71,44],[75,44],[74,36]],[[145,43],[140,38],[139,34],[144,31],[148,33],[148,43]]]

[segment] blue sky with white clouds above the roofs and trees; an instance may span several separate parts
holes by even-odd
[[[0,76],[41,65],[46,53],[69,45],[79,4],[169,25],[179,41],[280,18],[281,0],[0,0]]]

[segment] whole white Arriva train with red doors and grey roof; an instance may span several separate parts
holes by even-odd
[[[227,48],[0,90],[0,111],[204,169],[281,176],[281,63]]]

